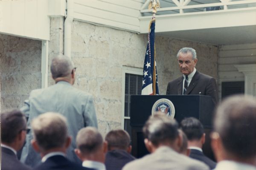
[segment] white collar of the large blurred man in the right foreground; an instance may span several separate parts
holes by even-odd
[[[256,170],[256,167],[250,164],[244,164],[236,161],[220,161],[215,170]]]

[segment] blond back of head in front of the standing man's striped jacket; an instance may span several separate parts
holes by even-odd
[[[32,130],[43,151],[63,147],[68,137],[66,118],[54,112],[47,112],[33,119]]]

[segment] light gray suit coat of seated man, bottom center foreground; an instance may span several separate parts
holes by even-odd
[[[175,152],[170,147],[162,146],[154,153],[129,162],[122,170],[209,170],[209,167]]]

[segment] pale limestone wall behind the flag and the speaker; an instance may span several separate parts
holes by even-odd
[[[167,37],[156,37],[157,72],[160,94],[169,81],[179,77],[176,59],[182,47],[195,48],[198,71],[217,78],[218,48]],[[147,35],[73,22],[72,59],[77,67],[75,86],[94,97],[102,134],[121,128],[122,66],[143,68]]]

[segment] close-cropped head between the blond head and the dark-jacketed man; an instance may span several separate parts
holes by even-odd
[[[102,148],[103,139],[95,127],[84,127],[77,133],[76,146],[83,156],[91,155]]]

